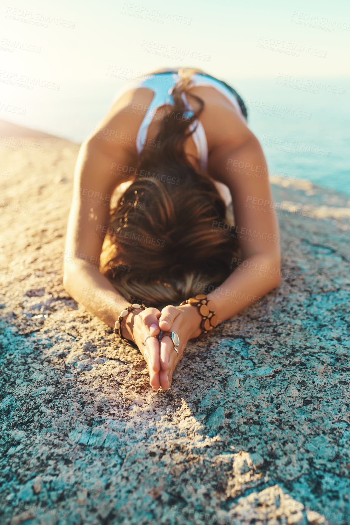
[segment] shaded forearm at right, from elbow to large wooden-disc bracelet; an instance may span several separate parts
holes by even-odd
[[[204,293],[215,302],[216,314],[225,321],[245,310],[279,285],[280,260],[256,255],[240,261],[234,272],[215,290],[201,283],[198,293]],[[208,293],[210,291],[210,293]]]

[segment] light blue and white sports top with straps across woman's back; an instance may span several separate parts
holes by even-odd
[[[148,88],[152,89],[152,91],[154,92],[153,100],[150,104],[149,109],[147,109],[145,117],[140,126],[139,132],[137,133],[137,152],[141,153],[143,146],[146,143],[147,131],[150,127],[151,121],[155,116],[157,109],[161,106],[164,106],[164,104],[174,104],[172,91],[180,78],[181,77],[178,74],[178,72],[173,71],[165,73],[154,73],[152,75],[141,77],[140,80],[136,82],[136,84],[135,82],[133,82],[132,87],[128,84],[124,86],[121,90],[119,90],[118,93],[116,93],[116,96],[113,99],[113,103],[116,102],[116,100],[118,100],[122,95],[124,95],[124,93],[132,89]],[[202,75],[200,73],[194,73],[192,76],[190,76],[190,79],[192,80],[190,87],[214,87],[217,91],[220,91],[220,93],[222,93],[222,95],[224,95],[238,109],[240,113],[242,113],[237,97],[219,80],[213,77],[209,77],[207,75]],[[193,114],[193,108],[187,102],[186,95],[184,92],[182,93],[182,98],[185,102],[185,107],[187,108],[185,117],[188,118],[191,114]],[[197,148],[199,164],[201,169],[206,170],[208,164],[208,143],[203,124],[200,122],[200,120],[196,120],[190,125],[189,130],[192,131],[193,129],[194,132],[192,134],[192,137]]]

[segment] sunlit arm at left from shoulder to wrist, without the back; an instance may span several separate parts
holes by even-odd
[[[110,327],[128,306],[99,271],[110,196],[122,181],[111,175],[112,163],[128,163],[128,152],[106,151],[96,136],[81,145],[69,214],[63,285],[77,302]],[[101,147],[102,146],[102,147]]]

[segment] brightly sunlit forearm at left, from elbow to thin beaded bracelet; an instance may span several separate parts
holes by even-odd
[[[65,266],[63,286],[71,297],[83,304],[89,312],[110,327],[114,327],[121,310],[128,307],[129,302],[115,291],[110,281],[98,268],[84,266],[77,268],[78,264],[79,259],[76,259],[70,262],[68,269],[67,265]]]

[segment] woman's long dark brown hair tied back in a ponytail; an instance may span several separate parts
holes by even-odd
[[[227,222],[213,180],[196,171],[184,152],[193,133],[188,127],[204,108],[193,96],[199,109],[187,118],[182,92],[188,86],[188,77],[175,86],[172,113],[156,137],[160,148],[142,151],[138,172],[143,176],[111,210],[100,259],[102,273],[123,297],[158,307],[200,293],[203,283],[220,285],[238,249],[235,237],[224,230],[220,235],[213,226]]]

